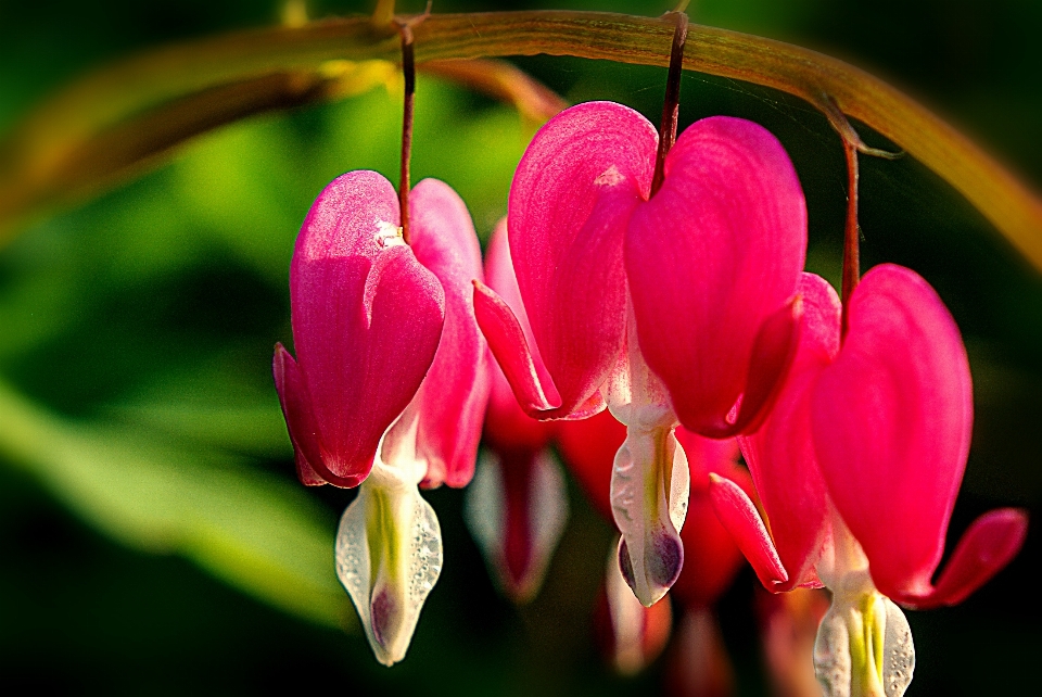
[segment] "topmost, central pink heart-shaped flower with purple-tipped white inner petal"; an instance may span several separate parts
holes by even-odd
[[[607,406],[627,427],[612,476],[620,563],[651,605],[683,565],[687,499],[677,423],[724,438],[754,428],[795,352],[806,244],[796,173],[750,122],[688,128],[649,200],[658,137],[610,102],[536,135],[510,190],[510,252],[525,331],[476,286],[475,312],[535,418]]]

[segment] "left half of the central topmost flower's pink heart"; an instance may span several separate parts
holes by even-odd
[[[595,397],[622,351],[622,239],[647,193],[657,140],[637,112],[589,102],[551,118],[518,165],[510,252],[539,353],[561,396],[549,416],[567,416]]]

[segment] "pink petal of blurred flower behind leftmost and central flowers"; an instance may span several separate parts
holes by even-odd
[[[507,241],[507,223],[501,220],[488,241],[485,254],[485,279],[513,311],[518,318],[530,346],[534,346],[531,339],[532,329],[528,326],[528,316],[521,303],[521,292],[518,290],[518,280],[513,275],[513,264],[510,261],[510,246]],[[526,415],[513,396],[513,390],[507,382],[495,360],[492,364],[492,391],[488,400],[488,410],[485,414],[485,438],[499,452],[526,449],[537,452],[542,449],[550,438],[552,426],[545,421],[536,421]],[[537,359],[536,364],[542,364]]]

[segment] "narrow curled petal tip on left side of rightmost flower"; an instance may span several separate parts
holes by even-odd
[[[763,587],[772,593],[788,590],[789,574],[749,495],[729,479],[710,473],[709,496],[716,518],[749,560]]]

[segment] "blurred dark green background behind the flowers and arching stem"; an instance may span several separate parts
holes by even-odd
[[[419,11],[422,3],[399,3]],[[1042,3],[1035,0],[702,0],[695,22],[822,50],[922,99],[1038,190]],[[660,14],[670,3],[437,0]],[[366,11],[309,3],[313,16]],[[0,135],[48,93],[163,42],[278,22],[277,2],[0,0]],[[518,65],[571,102],[613,99],[657,123],[665,71],[560,58]],[[711,114],[776,134],[808,198],[808,266],[838,282],[842,152],[806,104],[685,75],[682,127]],[[287,275],[310,201],[338,174],[396,181],[397,99],[377,88],[201,137],[169,164],[0,250],[0,692],[625,695],[660,689],[605,669],[590,611],[611,531],[572,487],[572,519],[539,597],[493,588],[461,522],[430,492],[445,569],[404,663],[376,663],[333,575],[353,493],[304,490],[270,380],[291,337]],[[887,143],[865,129],[871,144]],[[444,179],[487,236],[532,135],[509,106],[421,75],[414,178]],[[999,505],[1042,502],[1042,277],[911,159],[863,160],[863,258],[905,264],[963,330],[976,423],[950,547]],[[1042,231],[1040,231],[1042,233]],[[1038,519],[1038,518],[1035,518]],[[910,613],[908,695],[1027,694],[1042,611],[1020,557],[958,608]],[[765,694],[748,570],[720,616],[742,695]]]

